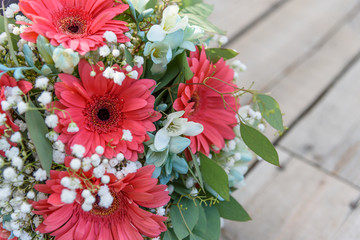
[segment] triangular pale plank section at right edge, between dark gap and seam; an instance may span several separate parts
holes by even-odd
[[[280,145],[360,186],[360,61]]]

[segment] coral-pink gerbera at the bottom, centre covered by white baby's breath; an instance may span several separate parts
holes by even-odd
[[[35,186],[38,191],[50,194],[48,199],[32,203],[36,209],[34,213],[44,217],[36,230],[50,233],[57,240],[142,240],[141,234],[151,238],[159,236],[166,231],[163,221],[167,218],[143,209],[161,207],[170,200],[165,191],[167,186],[157,185],[157,179],[151,177],[154,169],[153,165],[149,165],[121,180],[111,176],[108,187],[113,196],[112,205],[109,208],[99,206],[97,196],[90,211],[81,207],[84,201],[81,189],[77,190],[73,203],[64,204],[61,201],[64,187],[60,182],[69,173],[51,171],[51,179],[46,184]],[[84,174],[91,176],[91,171],[79,175]],[[84,181],[82,184],[85,185]],[[96,181],[92,184],[99,186]]]

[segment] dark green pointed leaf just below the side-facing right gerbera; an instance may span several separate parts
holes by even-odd
[[[200,168],[204,181],[222,198],[229,200],[229,179],[224,169],[202,153],[200,153]]]

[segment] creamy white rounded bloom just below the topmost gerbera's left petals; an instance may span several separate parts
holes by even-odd
[[[74,68],[80,61],[80,57],[77,52],[74,52],[70,48],[64,49],[62,47],[57,47],[54,50],[52,58],[55,62],[55,66],[68,74],[72,74],[74,72]]]

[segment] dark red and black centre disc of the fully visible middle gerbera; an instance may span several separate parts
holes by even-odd
[[[106,94],[93,96],[87,103],[83,114],[86,117],[86,127],[91,131],[108,133],[121,127],[123,121],[123,100],[118,96]]]

